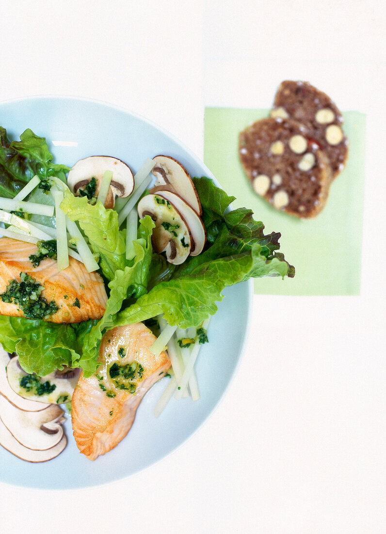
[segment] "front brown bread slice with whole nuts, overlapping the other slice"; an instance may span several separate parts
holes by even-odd
[[[239,135],[240,160],[256,193],[276,209],[315,217],[324,207],[332,170],[305,128],[290,119],[263,119]]]

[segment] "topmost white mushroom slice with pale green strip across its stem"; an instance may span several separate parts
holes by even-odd
[[[112,172],[109,192],[104,207],[114,208],[115,197],[128,197],[134,189],[133,173],[121,160],[111,156],[89,156],[75,163],[67,176],[67,185],[74,195],[79,196],[79,190],[84,190],[92,178],[95,178],[95,197],[98,196],[103,174],[107,170]]]

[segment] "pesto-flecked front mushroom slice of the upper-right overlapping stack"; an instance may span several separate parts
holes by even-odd
[[[156,224],[151,241],[159,254],[166,252],[167,261],[174,265],[183,263],[190,254],[191,234],[180,212],[157,194],[146,195],[138,203],[140,218],[150,215]]]

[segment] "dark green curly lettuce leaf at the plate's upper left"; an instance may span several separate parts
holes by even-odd
[[[53,164],[52,159],[44,137],[28,129],[20,141],[10,141],[5,128],[0,127],[0,195],[13,198],[35,175],[65,179],[69,168]]]

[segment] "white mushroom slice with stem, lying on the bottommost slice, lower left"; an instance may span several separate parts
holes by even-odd
[[[19,443],[36,451],[51,449],[63,436],[63,427],[57,422],[63,415],[57,404],[40,412],[25,412],[0,397],[0,418]]]

